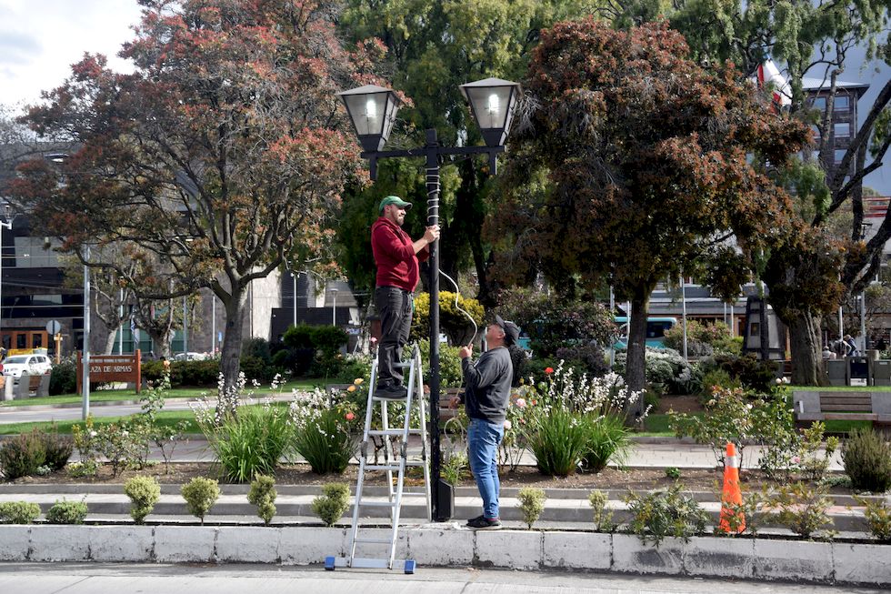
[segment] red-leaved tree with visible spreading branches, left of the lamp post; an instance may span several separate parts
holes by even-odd
[[[26,121],[79,148],[58,169],[22,167],[13,191],[84,259],[88,244],[122,245],[143,262],[137,274],[91,264],[145,297],[213,290],[231,386],[250,283],[329,256],[328,223],[361,165],[335,92],[374,81],[378,50],[345,51],[321,1],[140,4],[122,51],[135,73],[115,74],[101,55],[74,65]]]

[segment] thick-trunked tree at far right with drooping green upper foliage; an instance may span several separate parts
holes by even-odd
[[[859,294],[876,276],[891,238],[888,217],[866,242],[860,227],[864,221],[863,178],[882,166],[891,146],[891,112],[887,110],[891,81],[879,90],[866,114],[859,116],[859,127],[851,131],[850,143],[837,165],[838,145],[830,118],[838,81],[856,76],[848,64],[856,46],[866,47],[868,59],[891,63],[891,45],[883,38],[888,8],[887,2],[835,0],[679,0],[670,4],[610,0],[602,11],[623,25],[665,16],[686,36],[691,55],[700,64],[715,67],[729,60],[740,76],[753,76],[758,66],[772,57],[788,78],[790,114],[816,127],[819,134],[806,146],[803,158],[791,159],[782,167],[771,163],[776,183],[794,190],[802,237],[785,247],[749,251],[742,262],[764,279],[771,305],[790,329],[792,380],[796,384],[826,381],[820,356],[822,318],[843,299]],[[822,79],[825,111],[806,102],[805,76]],[[827,224],[831,226],[831,219],[842,211],[852,215],[846,218],[846,228],[837,234],[828,232]]]

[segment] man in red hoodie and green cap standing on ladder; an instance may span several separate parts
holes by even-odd
[[[378,207],[380,216],[371,226],[371,249],[377,265],[375,306],[381,317],[375,388],[375,396],[380,398],[405,398],[402,369],[395,363],[412,325],[412,294],[420,277],[418,261],[427,259],[429,245],[439,238],[438,225],[427,227],[424,237],[415,242],[408,237],[402,224],[411,207],[399,196],[386,196]]]

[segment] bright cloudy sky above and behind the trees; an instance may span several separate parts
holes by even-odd
[[[35,103],[42,90],[62,83],[85,52],[105,54],[115,70],[129,71],[115,55],[132,38],[130,26],[139,15],[135,0],[0,0],[0,104]],[[859,104],[862,121],[891,68],[880,63],[876,72],[875,64],[865,66],[862,51],[848,62],[842,78],[870,84]],[[866,177],[866,185],[891,195],[891,156]]]

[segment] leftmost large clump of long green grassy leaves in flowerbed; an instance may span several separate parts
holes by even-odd
[[[212,421],[199,422],[199,426],[223,476],[239,483],[256,474],[274,475],[294,435],[287,411],[275,406],[243,407],[237,418],[226,418],[219,426]]]

